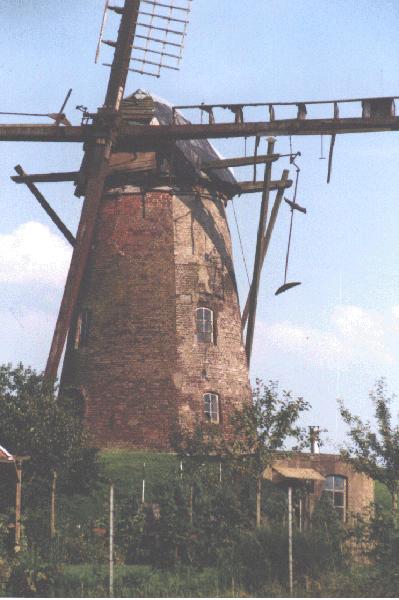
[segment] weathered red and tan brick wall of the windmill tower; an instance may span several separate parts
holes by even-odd
[[[214,311],[213,343],[198,342],[196,309]],[[75,348],[79,315],[87,343]],[[231,241],[223,202],[201,188],[105,194],[61,385],[78,390],[93,443],[168,450],[181,424],[220,399],[229,433],[250,400]]]

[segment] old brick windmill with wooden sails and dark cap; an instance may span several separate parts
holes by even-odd
[[[399,129],[394,98],[321,102],[332,108],[325,119],[307,119],[311,102],[296,101],[288,103],[296,106],[296,118],[278,119],[277,111],[287,103],[170,109],[141,92],[125,97],[130,70],[157,77],[163,68],[178,68],[189,8],[189,0],[106,2],[103,22],[113,11],[120,27],[115,41],[104,39],[103,28],[100,34],[99,44],[114,48],[103,106],[96,113],[83,107],[79,126],[65,120],[65,103],[49,115],[54,125],[0,126],[4,141],[84,144],[77,171],[26,174],[17,167],[13,179],[29,187],[73,245],[46,376],[56,377],[69,333],[62,385],[75,386],[83,397],[86,419],[102,445],[165,447],[174,423],[204,416],[228,432],[229,413],[250,397],[247,366],[260,274],[292,181],[287,170],[272,179],[272,165],[282,158],[273,139],[265,155],[230,159],[220,159],[206,140],[330,135],[330,176],[336,135]],[[340,118],[340,105],[349,101],[361,103],[361,115]],[[259,108],[262,119],[268,111],[269,119],[247,122],[248,107]],[[208,123],[188,122],[182,116],[188,108],[206,114]],[[228,111],[232,122],[218,122],[220,111]],[[237,182],[228,171],[258,164],[265,165],[261,181]],[[76,194],[84,196],[76,236],[36,188],[44,181],[74,181]],[[234,195],[253,192],[262,193],[262,203],[242,315],[242,324],[247,322],[244,353],[223,205]],[[269,216],[272,192],[276,198]],[[135,296],[137,289],[141,298]],[[166,325],[161,327],[161,321]]]

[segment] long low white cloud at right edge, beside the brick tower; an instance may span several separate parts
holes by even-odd
[[[387,316],[360,306],[338,305],[319,327],[291,321],[259,323],[255,354],[259,359],[278,352],[298,358],[303,367],[329,370],[392,365],[396,362],[392,314],[399,317],[399,307]]]

